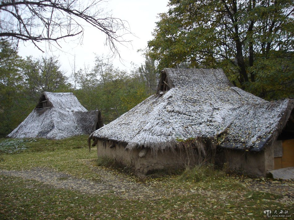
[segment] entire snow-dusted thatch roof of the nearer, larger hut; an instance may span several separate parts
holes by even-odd
[[[199,138],[222,147],[260,151],[283,129],[293,104],[292,99],[267,102],[233,87],[221,69],[166,68],[157,94],[90,138],[155,152]]]

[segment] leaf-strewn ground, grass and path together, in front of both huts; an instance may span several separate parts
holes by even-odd
[[[293,216],[292,181],[216,172],[198,182],[142,183],[97,166],[84,139],[36,140],[21,153],[2,153],[0,219],[265,219],[264,210],[282,209]]]

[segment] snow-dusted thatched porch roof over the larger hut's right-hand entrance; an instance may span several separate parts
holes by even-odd
[[[261,104],[245,103],[234,113],[226,132],[222,134],[222,147],[260,151],[277,137],[285,127],[293,100],[284,99]]]

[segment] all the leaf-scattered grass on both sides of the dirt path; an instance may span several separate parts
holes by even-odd
[[[15,144],[24,147],[9,152],[9,146],[13,148]],[[98,165],[114,163],[108,158],[97,159],[94,149],[89,153],[86,136],[60,141],[2,139],[0,146],[3,145],[6,150],[1,152],[0,169],[6,170],[45,167],[95,180],[101,178],[95,172],[101,169]],[[116,174],[124,178],[124,174]],[[270,193],[266,182],[263,190],[257,190],[247,184],[250,179],[241,182],[238,178],[241,177],[228,176],[207,165],[187,168],[181,175],[148,180],[146,184],[130,181],[131,186],[139,184],[138,188],[162,190],[148,198],[138,193],[123,197],[115,190],[105,194],[76,192],[0,175],[0,219],[265,219],[264,210],[292,212],[293,201]]]

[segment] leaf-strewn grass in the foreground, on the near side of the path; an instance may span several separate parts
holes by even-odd
[[[268,207],[291,210],[277,199],[262,192],[231,196],[201,190],[150,201],[121,199],[111,193],[89,195],[0,176],[0,219],[263,219]]]

